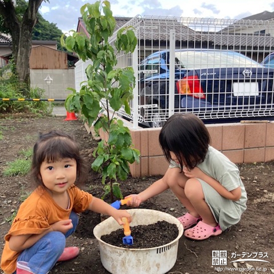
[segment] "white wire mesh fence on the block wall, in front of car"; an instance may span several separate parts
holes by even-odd
[[[213,122],[274,116],[274,70],[260,65],[274,51],[274,22],[136,16],[127,25],[138,45],[117,54],[118,66],[133,66],[137,82],[131,115],[119,114],[134,127],[162,126],[175,112]]]

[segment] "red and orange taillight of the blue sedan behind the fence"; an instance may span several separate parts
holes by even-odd
[[[188,94],[195,98],[205,99],[198,76],[186,76],[177,81],[176,85],[179,94]]]

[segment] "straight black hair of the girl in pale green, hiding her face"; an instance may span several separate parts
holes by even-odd
[[[174,114],[161,129],[159,142],[165,158],[170,161],[170,151],[192,169],[205,159],[210,135],[204,123],[194,114]]]

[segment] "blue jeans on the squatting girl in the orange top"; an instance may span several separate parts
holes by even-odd
[[[28,263],[28,267],[35,274],[46,274],[56,264],[66,246],[66,238],[75,232],[78,225],[78,216],[71,212],[69,218],[72,220],[73,228],[64,235],[62,232],[49,232],[39,239],[32,247],[25,249],[18,256],[18,261]],[[16,274],[14,272],[13,274]]]

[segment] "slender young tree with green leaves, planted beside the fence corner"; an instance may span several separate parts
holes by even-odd
[[[94,124],[97,132],[104,131],[108,140],[102,140],[94,150],[97,157],[92,164],[95,171],[102,173],[105,195],[110,193],[123,198],[118,179],[126,180],[130,173],[129,164],[139,161],[139,151],[133,148],[130,131],[115,113],[124,107],[130,114],[129,102],[133,97],[135,76],[132,67],[115,68],[115,50],[133,52],[137,38],[132,27],[122,28],[117,35],[115,48],[109,43],[116,21],[110,2],[96,1],[81,8],[89,37],[73,32],[61,42],[83,61],[91,60],[86,69],[88,81],[82,83],[80,92],[73,90],[65,102],[69,112],[80,112],[85,121]],[[62,36],[64,37],[64,35]]]

